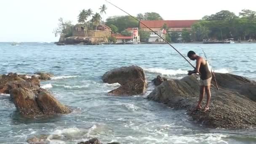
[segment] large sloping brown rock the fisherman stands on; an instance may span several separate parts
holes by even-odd
[[[256,126],[256,82],[231,74],[215,73],[219,91],[212,79],[210,110],[195,111],[199,85],[195,75],[168,80],[157,86],[148,99],[175,109],[186,109],[199,124],[208,128],[240,129]],[[203,106],[206,102],[206,94]]]

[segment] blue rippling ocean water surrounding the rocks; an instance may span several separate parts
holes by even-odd
[[[215,72],[256,80],[256,44],[173,44],[184,56],[190,50],[203,56]],[[203,49],[203,51],[202,51]],[[192,67],[168,45],[65,45],[0,43],[0,74],[52,72],[41,86],[72,109],[69,115],[24,117],[9,96],[0,96],[0,144],[24,144],[48,135],[48,144],[76,144],[92,137],[121,144],[255,144],[256,130],[204,128],[184,110],[148,101],[154,89],[140,96],[108,96],[119,84],[101,80],[113,68],[138,65],[148,82],[157,75],[181,78]],[[191,61],[195,64],[195,61]]]

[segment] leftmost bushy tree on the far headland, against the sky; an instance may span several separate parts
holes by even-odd
[[[55,37],[57,37],[60,34],[65,35],[65,37],[72,36],[72,29],[74,25],[71,21],[64,21],[63,18],[59,18],[59,24],[58,27],[53,29],[53,33],[55,34]]]

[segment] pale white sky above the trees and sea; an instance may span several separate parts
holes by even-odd
[[[256,11],[256,0],[109,0],[136,16],[138,13],[156,12],[164,20],[201,19],[221,10],[234,12],[242,9]],[[107,5],[109,16],[125,15],[105,0],[0,0],[0,42],[54,42],[59,37],[52,33],[58,19],[77,23],[82,9]]]

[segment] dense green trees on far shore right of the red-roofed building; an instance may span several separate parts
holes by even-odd
[[[193,24],[193,40],[248,40],[256,38],[256,12],[242,10],[240,17],[229,11],[221,11]]]

